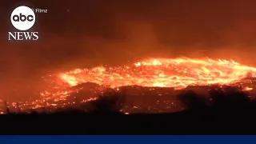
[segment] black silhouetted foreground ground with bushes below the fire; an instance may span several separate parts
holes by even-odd
[[[256,134],[256,102],[234,87],[214,88],[210,98],[188,90],[186,110],[172,114],[122,114],[121,96],[100,97],[90,112],[0,116],[1,134]],[[122,100],[120,100],[120,98]]]

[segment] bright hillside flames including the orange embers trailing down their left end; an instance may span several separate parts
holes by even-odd
[[[48,88],[32,102],[34,108],[58,106],[70,94],[84,92],[79,102],[94,100],[107,88],[120,86],[174,87],[231,85],[242,78],[254,77],[256,68],[233,60],[191,58],[149,58],[126,66],[98,66],[76,69],[43,77]],[[91,82],[90,85],[82,85]],[[251,88],[247,88],[251,90]]]

